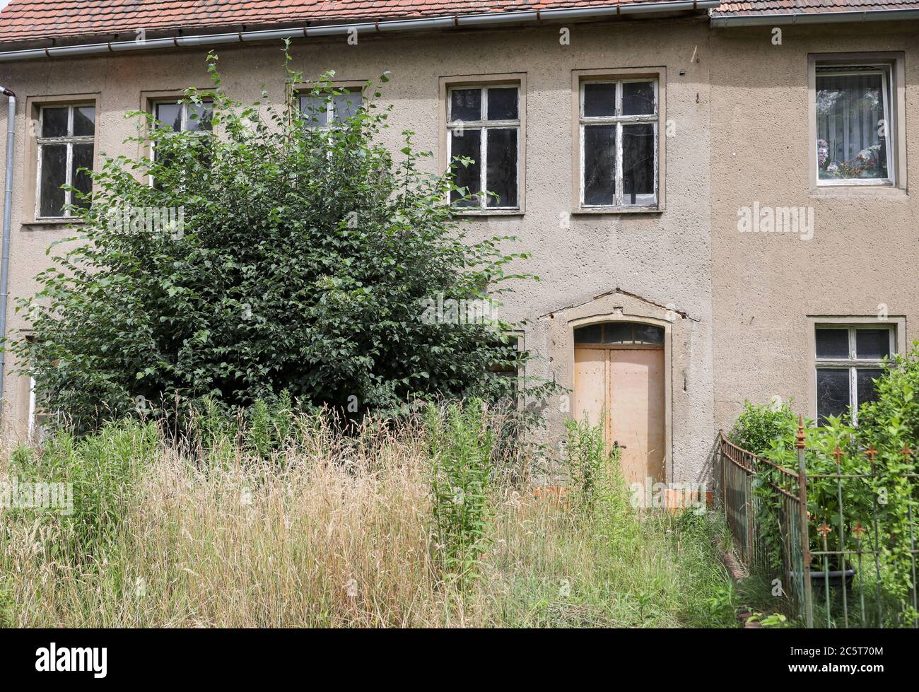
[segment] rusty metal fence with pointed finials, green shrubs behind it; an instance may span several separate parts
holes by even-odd
[[[773,596],[785,598],[805,627],[917,627],[913,504],[919,476],[902,474],[912,494],[905,506],[891,507],[877,450],[848,452],[864,455],[866,473],[844,472],[851,464],[842,463],[846,453],[839,448],[828,455],[835,473],[809,473],[807,455],[815,452],[805,448],[802,425],[796,450],[798,468],[791,470],[720,432],[717,499],[738,557],[766,577]],[[899,454],[912,462],[912,450]],[[891,516],[899,518],[891,523]]]

